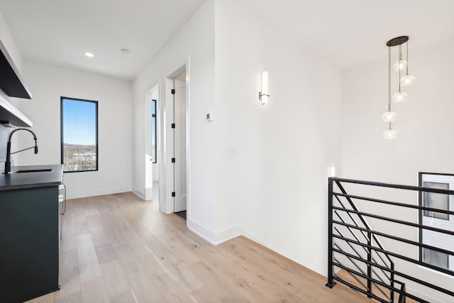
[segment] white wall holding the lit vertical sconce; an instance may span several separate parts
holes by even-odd
[[[264,70],[266,105],[258,99]],[[340,111],[340,70],[216,1],[216,232],[243,233],[326,275],[327,177],[341,164]]]

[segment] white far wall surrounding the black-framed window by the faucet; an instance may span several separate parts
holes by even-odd
[[[60,164],[60,97],[98,101],[99,171],[65,173],[67,198],[131,191],[131,82],[25,61],[24,78],[33,100],[16,106],[33,121],[38,155],[33,150],[13,155],[15,165]],[[16,133],[23,148],[33,143]]]

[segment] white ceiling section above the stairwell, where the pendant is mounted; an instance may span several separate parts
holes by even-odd
[[[454,38],[454,0],[231,1],[341,69],[387,57],[401,35],[410,50]]]

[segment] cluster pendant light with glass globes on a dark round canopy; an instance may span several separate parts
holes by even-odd
[[[393,140],[397,138],[397,131],[392,129],[391,122],[396,121],[397,114],[391,110],[391,100],[394,103],[402,103],[406,101],[408,95],[406,92],[402,92],[401,87],[409,87],[414,83],[415,77],[409,75],[409,46],[408,46],[409,37],[404,35],[402,37],[397,37],[389,40],[386,45],[388,46],[388,111],[382,115],[382,120],[389,123],[388,129],[383,132],[383,138],[387,140]],[[402,59],[402,44],[406,45],[406,57]],[[391,48],[393,46],[399,46],[399,60],[394,64],[394,72],[399,72],[399,91],[391,95]],[[404,77],[402,72],[406,72]]]

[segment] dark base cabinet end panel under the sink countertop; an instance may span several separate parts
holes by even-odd
[[[0,191],[0,302],[60,288],[58,185]]]

